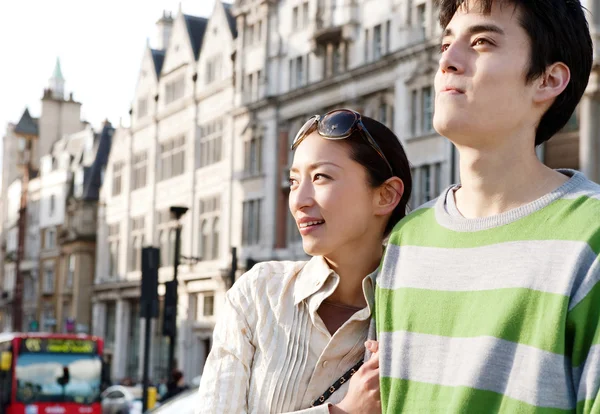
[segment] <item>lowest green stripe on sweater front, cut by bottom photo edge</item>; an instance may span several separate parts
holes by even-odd
[[[381,378],[382,413],[564,414],[570,410],[536,407],[492,391]],[[387,399],[385,397],[387,396]]]

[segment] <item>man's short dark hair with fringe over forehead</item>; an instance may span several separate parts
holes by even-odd
[[[467,3],[477,4],[484,14],[489,14],[494,1],[512,4],[521,12],[520,23],[531,44],[527,82],[537,79],[556,62],[564,63],[571,71],[567,87],[537,127],[535,145],[540,145],[569,121],[590,78],[593,44],[584,9],[579,0],[439,0],[440,24],[445,29],[456,10],[468,7]]]

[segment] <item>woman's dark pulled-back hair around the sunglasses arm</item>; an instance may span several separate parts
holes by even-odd
[[[396,134],[381,122],[372,118],[362,116],[362,122],[392,165],[394,176],[400,178],[404,183],[404,193],[385,227],[384,235],[387,236],[396,223],[404,218],[407,212],[408,200],[412,192],[410,165],[404,148]],[[346,143],[350,147],[350,157],[365,167],[369,177],[369,184],[372,187],[380,186],[391,177],[390,169],[385,161],[381,159],[377,151],[361,135],[360,131],[354,132],[350,137],[341,142]]]

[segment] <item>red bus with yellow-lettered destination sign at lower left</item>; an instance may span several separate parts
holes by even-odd
[[[0,334],[0,414],[101,414],[102,339]]]

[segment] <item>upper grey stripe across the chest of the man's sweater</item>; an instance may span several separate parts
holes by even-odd
[[[594,260],[589,245],[575,241],[520,241],[462,249],[389,245],[377,283],[384,289],[527,288],[570,296],[577,286],[573,284],[585,280]]]

